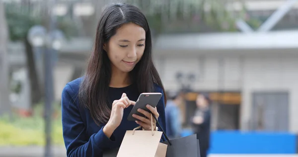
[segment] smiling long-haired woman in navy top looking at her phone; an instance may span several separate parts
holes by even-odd
[[[126,130],[142,126],[147,118],[128,121],[142,92],[161,92],[156,108],[147,105],[165,127],[166,96],[151,57],[151,35],[145,15],[135,6],[116,3],[106,7],[98,22],[94,51],[83,78],[65,86],[62,93],[63,137],[68,157],[101,157],[119,148]],[[155,128],[154,128],[155,129]],[[162,136],[161,141],[165,141]]]

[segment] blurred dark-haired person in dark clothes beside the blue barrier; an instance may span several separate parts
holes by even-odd
[[[210,141],[211,99],[207,94],[199,94],[196,104],[197,110],[192,119],[192,123],[194,132],[197,134],[197,139],[199,139],[201,157],[207,157]]]

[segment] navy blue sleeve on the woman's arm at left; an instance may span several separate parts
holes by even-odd
[[[102,157],[103,150],[113,145],[115,138],[112,135],[109,139],[103,133],[103,127],[87,138],[86,126],[74,97],[73,88],[67,84],[62,92],[62,126],[67,157]]]

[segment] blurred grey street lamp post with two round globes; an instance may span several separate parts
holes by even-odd
[[[45,82],[45,157],[52,157],[51,145],[51,131],[52,131],[52,103],[54,99],[53,89],[53,54],[56,53],[62,45],[64,35],[60,30],[54,30],[49,33],[43,26],[33,26],[28,32],[28,40],[35,50],[45,47],[43,61],[44,61],[44,82]],[[40,53],[41,54],[41,53]],[[39,61],[40,62],[40,58]]]

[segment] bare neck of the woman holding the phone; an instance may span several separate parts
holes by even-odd
[[[110,81],[110,87],[125,87],[131,84],[129,73],[121,72],[120,70],[112,67],[112,76]]]

